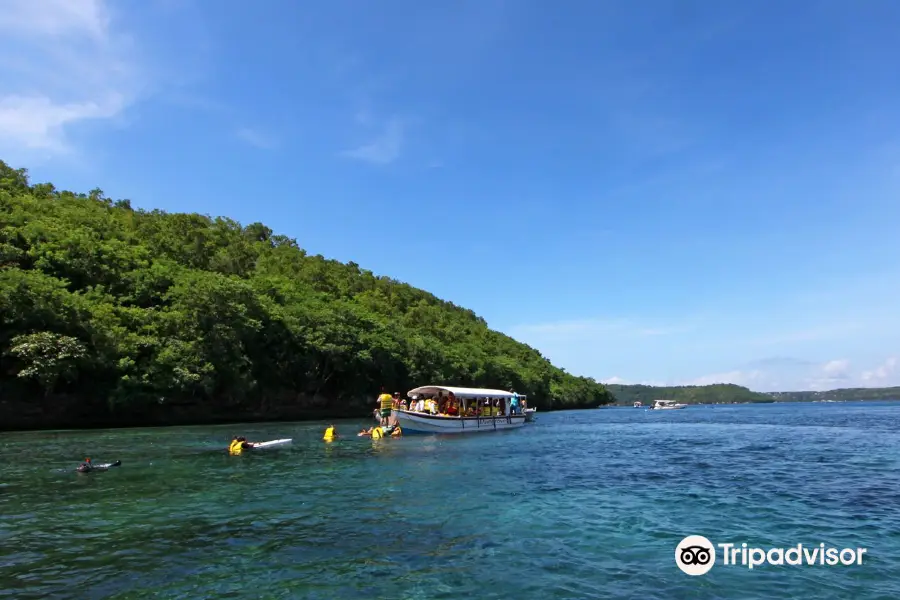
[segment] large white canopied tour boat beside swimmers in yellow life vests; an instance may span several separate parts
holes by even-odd
[[[482,410],[481,416],[452,416],[394,409],[391,419],[396,418],[404,432],[418,433],[474,433],[515,429],[525,424],[524,413],[509,414],[509,403],[513,395],[503,390],[426,385],[410,390],[407,395],[413,400],[435,398],[440,403],[451,394],[459,402],[461,414],[465,414],[466,409],[474,405]]]

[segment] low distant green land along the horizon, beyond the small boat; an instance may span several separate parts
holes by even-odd
[[[683,404],[746,404],[764,402],[815,402],[900,400],[900,387],[846,388],[824,392],[754,392],[734,384],[656,387],[649,385],[607,384],[617,404],[633,405],[640,401],[651,405],[654,400],[675,400]]]

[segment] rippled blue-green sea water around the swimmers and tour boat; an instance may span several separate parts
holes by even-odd
[[[324,426],[3,435],[0,597],[900,598],[900,403],[603,409],[332,444]],[[294,444],[230,457],[235,433]],[[85,456],[123,466],[60,470]],[[690,577],[674,558],[690,534],[867,554]]]

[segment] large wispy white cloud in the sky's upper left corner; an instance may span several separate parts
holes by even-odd
[[[67,130],[135,99],[131,40],[103,0],[5,0],[0,10],[0,152],[27,160],[71,150]]]

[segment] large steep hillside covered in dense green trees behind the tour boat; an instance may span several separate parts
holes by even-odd
[[[0,422],[367,414],[381,386],[613,401],[471,310],[260,223],[135,210],[0,161]]]

